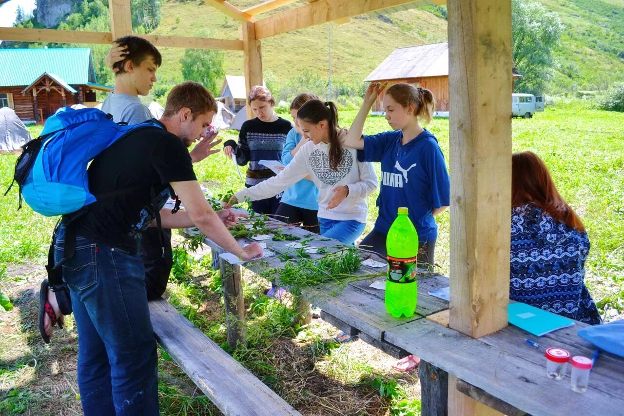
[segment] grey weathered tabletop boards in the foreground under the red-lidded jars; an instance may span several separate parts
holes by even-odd
[[[613,409],[624,409],[622,390],[612,390],[613,385],[623,382],[624,359],[611,357],[616,364],[608,377],[601,379],[592,372],[587,392],[577,394],[570,390],[568,380],[554,381],[546,377],[545,361],[540,352],[528,346],[527,351],[517,351],[518,346],[524,344],[526,333],[518,332],[510,339],[494,342],[498,337],[507,336],[510,329],[512,327],[472,339],[420,319],[386,330],[384,340],[529,414],[602,415],[613,414]],[[578,352],[588,354],[588,350]],[[604,355],[608,358],[607,353]],[[527,360],[527,356],[531,358]]]

